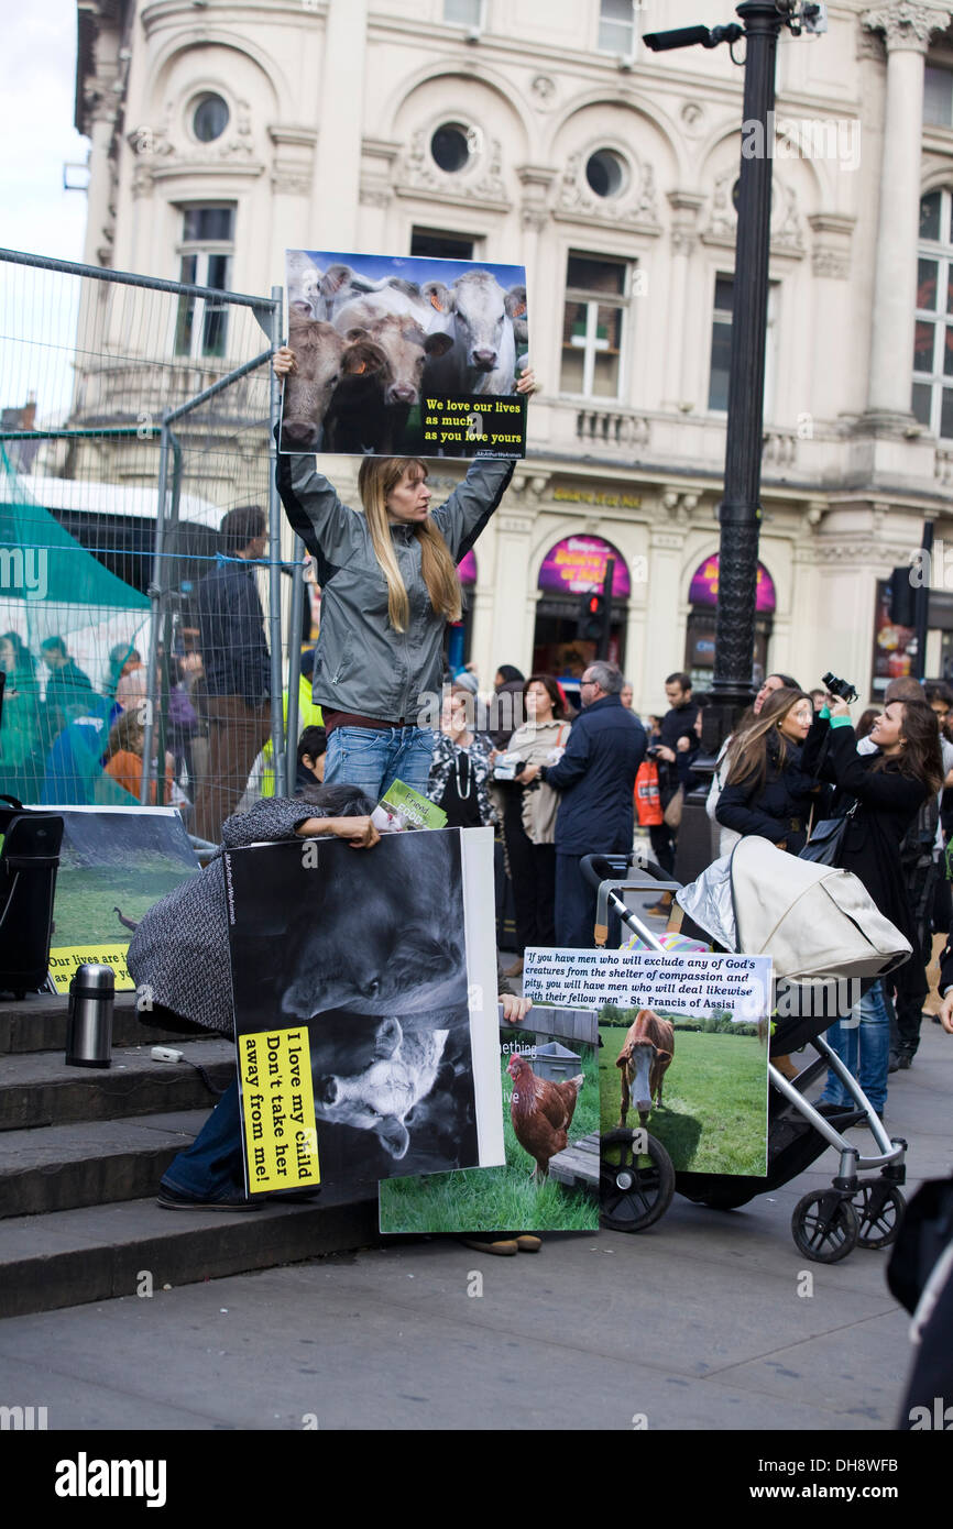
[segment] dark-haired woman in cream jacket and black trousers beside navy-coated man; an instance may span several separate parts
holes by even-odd
[[[542,780],[526,781],[531,764],[555,764],[569,739],[569,722],[552,674],[531,674],[523,685],[526,722],[517,728],[508,754],[519,754],[522,769],[512,783],[497,781],[503,794],[503,838],[516,905],[517,960],[508,977],[519,977],[528,945],[555,945],[555,810],[558,792]],[[554,754],[558,749],[560,754]]]

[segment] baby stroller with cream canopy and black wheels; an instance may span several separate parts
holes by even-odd
[[[646,946],[670,950],[626,907],[620,891],[672,890],[685,911],[682,934],[698,936],[716,951],[771,954],[777,1023],[769,1055],[788,1055],[805,1046],[817,1053],[794,1081],[768,1061],[766,1177],[676,1173],[664,1145],[646,1130],[603,1133],[603,1225],[615,1231],[644,1231],[664,1216],[676,1191],[698,1205],[736,1209],[756,1194],[788,1183],[826,1147],[834,1147],[840,1167],[831,1188],[805,1194],[794,1208],[791,1232],[797,1248],[817,1263],[837,1263],[857,1245],[889,1246],[904,1212],[899,1185],[906,1180],[907,1144],[887,1136],[857,1079],[823,1038],[828,1026],[846,1017],[857,1001],[857,982],[864,991],[910,951],[857,878],[799,861],[762,838],[740,839],[730,856],[716,861],[684,888],[668,881],[658,865],[633,868],[624,856],[587,855],[583,873],[598,887],[600,943],[612,911]],[[803,933],[805,917],[818,934],[799,942],[797,930]],[[811,946],[808,951],[805,943]],[[803,969],[805,956],[814,960],[812,971]],[[805,1098],[828,1067],[840,1078],[851,1105],[818,1109]],[[844,1136],[861,1122],[873,1136],[872,1156],[861,1156]],[[867,1170],[880,1170],[880,1176],[861,1179],[860,1173]]]

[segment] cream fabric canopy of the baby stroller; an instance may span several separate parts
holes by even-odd
[[[774,976],[789,982],[880,977],[910,954],[857,876],[757,835],[739,839],[676,902],[725,950],[771,956]]]

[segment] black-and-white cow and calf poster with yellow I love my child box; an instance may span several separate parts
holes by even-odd
[[[493,835],[225,858],[249,1194],[503,1161]]]

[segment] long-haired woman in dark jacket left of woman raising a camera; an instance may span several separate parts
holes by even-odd
[[[797,855],[808,841],[814,778],[802,768],[802,746],[814,720],[811,697],[782,687],[731,740],[717,821],[746,836],[757,833]]]

